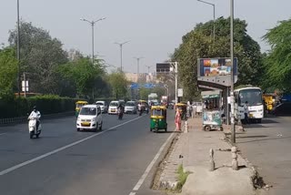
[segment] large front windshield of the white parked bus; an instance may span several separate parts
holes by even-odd
[[[245,89],[239,92],[238,104],[243,107],[248,102],[249,106],[263,104],[262,91],[260,89]]]

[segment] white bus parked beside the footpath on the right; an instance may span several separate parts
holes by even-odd
[[[234,91],[235,118],[245,119],[244,105],[248,103],[249,120],[261,123],[264,118],[264,101],[262,89],[259,87],[243,87]]]

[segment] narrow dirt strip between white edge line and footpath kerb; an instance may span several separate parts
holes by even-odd
[[[155,172],[155,177],[152,181],[152,185],[151,185],[151,189],[153,190],[159,190],[160,187],[160,178],[161,175],[166,167],[166,161],[169,159],[170,154],[172,153],[177,140],[180,138],[180,135],[177,133],[174,137],[174,139],[172,139],[170,146],[168,147],[166,154],[164,156],[163,159],[161,159],[161,161],[158,163],[158,166],[156,167],[156,172]]]

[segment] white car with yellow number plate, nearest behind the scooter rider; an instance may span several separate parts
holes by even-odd
[[[76,129],[79,130],[102,130],[103,119],[101,108],[97,105],[85,105],[81,108],[76,119]]]

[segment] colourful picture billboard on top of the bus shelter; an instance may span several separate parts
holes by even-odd
[[[199,58],[198,77],[227,76],[231,73],[230,58]],[[234,58],[234,74],[237,75],[237,58]]]

